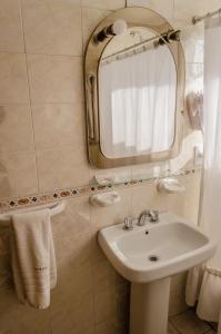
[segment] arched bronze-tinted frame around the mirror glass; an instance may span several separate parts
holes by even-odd
[[[112,24],[118,19],[123,19],[129,28],[148,28],[155,35],[159,35],[159,37],[165,33],[169,29],[173,29],[172,26],[158,12],[147,8],[130,7],[111,13],[104,20],[102,20],[93,31],[84,57],[84,87],[87,105],[88,154],[90,164],[97,168],[112,168],[134,164],[168,160],[179,155],[182,143],[181,118],[183,117],[185,61],[181,42],[174,41],[167,43],[173,56],[177,68],[175,134],[171,148],[165,151],[122,158],[108,158],[102,154],[100,146],[98,71],[102,53],[112,37],[106,38],[99,43],[94,43],[93,38],[104,27]]]

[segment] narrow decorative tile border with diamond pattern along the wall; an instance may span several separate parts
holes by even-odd
[[[130,178],[122,180],[118,184],[110,184],[106,186],[101,186],[98,184],[91,184],[83,187],[74,187],[74,188],[67,188],[67,189],[58,189],[51,193],[44,193],[44,194],[37,194],[37,195],[30,195],[30,196],[23,196],[23,197],[8,197],[0,199],[0,213],[6,213],[9,210],[18,209],[18,208],[26,208],[30,206],[37,206],[37,205],[43,205],[54,202],[63,200],[64,198],[73,198],[79,197],[83,195],[92,195],[96,193],[102,193],[102,191],[110,191],[113,189],[119,188],[128,188],[141,185],[143,183],[152,183],[159,178],[163,177],[181,177],[184,175],[188,175],[190,173],[193,173],[194,170],[185,169],[185,170],[179,170],[178,173],[163,173],[159,176],[152,176],[152,177],[142,177],[142,178]]]

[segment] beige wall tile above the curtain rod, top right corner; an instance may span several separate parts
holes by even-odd
[[[192,17],[218,10],[220,0],[174,0],[174,18],[191,22]]]

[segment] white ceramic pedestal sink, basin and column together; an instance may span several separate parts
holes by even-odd
[[[98,240],[115,269],[131,282],[130,334],[165,334],[170,276],[215,252],[214,240],[170,213],[132,230],[124,230],[123,224],[102,228]]]

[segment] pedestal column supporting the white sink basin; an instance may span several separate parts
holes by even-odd
[[[167,334],[170,277],[131,283],[130,334]]]

